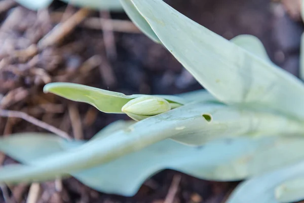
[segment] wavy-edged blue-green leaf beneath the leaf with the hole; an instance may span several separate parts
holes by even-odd
[[[296,149],[288,151],[290,148],[284,147],[284,141]],[[73,176],[95,190],[132,196],[148,177],[164,169],[213,181],[237,181],[260,175],[303,159],[303,144],[301,138],[292,141],[240,138],[196,148],[164,140]],[[280,157],[286,151],[292,156],[296,150],[300,153],[295,157]]]

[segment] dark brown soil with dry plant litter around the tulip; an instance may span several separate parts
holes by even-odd
[[[0,5],[2,2],[9,1],[0,1]],[[226,39],[241,34],[258,37],[276,64],[298,76],[300,36],[304,29],[300,19],[294,17],[297,15],[289,15],[286,5],[264,0],[166,2]],[[56,45],[36,49],[37,42],[58,24],[56,14],[65,11],[69,17],[78,9],[56,1],[40,12],[18,5],[10,7],[0,8],[0,109],[22,111],[75,138],[90,139],[107,124],[128,118],[44,94],[46,83],[74,82],[125,94],[175,94],[202,88],[168,51],[141,33],[115,31],[112,35],[79,25]],[[107,14],[101,13],[102,17]],[[92,12],[87,18],[99,15]],[[111,12],[110,17],[128,19],[118,12]],[[79,122],[81,133],[73,133]],[[45,130],[22,119],[0,118],[3,136],[30,131]],[[7,164],[13,160],[0,157],[0,161]],[[37,202],[164,202],[176,177],[181,180],[173,202],[180,203],[224,202],[238,184],[199,180],[165,170],[147,180],[135,196],[123,197],[97,192],[69,178],[63,180],[60,191],[56,191],[54,182],[43,183]],[[28,185],[9,188],[18,202],[26,202],[28,191]],[[4,202],[1,197],[0,202]]]

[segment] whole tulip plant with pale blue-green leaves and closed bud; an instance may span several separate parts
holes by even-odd
[[[230,41],[162,0],[120,0],[130,19],[206,89],[178,95],[125,95],[80,84],[45,92],[127,114],[89,141],[26,133],[1,138],[20,161],[0,182],[73,176],[101,192],[131,196],[170,168],[215,181],[248,179],[229,203],[291,202],[304,197],[304,84],[268,57],[255,37]],[[202,146],[202,147],[198,147]]]

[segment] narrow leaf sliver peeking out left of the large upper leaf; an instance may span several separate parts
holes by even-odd
[[[131,0],[120,0],[120,2],[126,14],[134,22],[134,24],[151,40],[153,40],[156,43],[161,43],[158,37],[155,35],[154,31],[151,29],[150,25],[136,10]]]

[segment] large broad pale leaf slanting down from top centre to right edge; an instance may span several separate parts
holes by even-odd
[[[131,1],[162,44],[220,101],[260,105],[304,118],[304,86],[296,77],[161,0]]]

